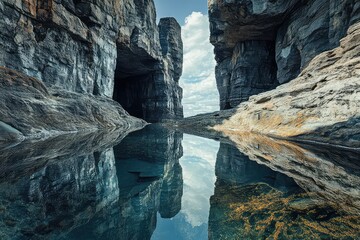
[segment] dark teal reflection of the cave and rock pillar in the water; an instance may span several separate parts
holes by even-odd
[[[150,239],[157,213],[175,216],[183,193],[182,134],[149,126],[129,134],[114,147],[119,196],[72,239]]]

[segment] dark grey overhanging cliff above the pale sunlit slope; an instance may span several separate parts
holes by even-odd
[[[356,0],[210,0],[220,109],[286,83],[360,19]]]

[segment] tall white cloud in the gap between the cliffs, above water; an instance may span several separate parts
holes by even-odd
[[[185,117],[219,110],[208,16],[193,12],[182,26],[184,67],[180,79]]]

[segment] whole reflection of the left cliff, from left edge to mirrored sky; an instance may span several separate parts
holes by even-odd
[[[150,239],[181,209],[182,134],[126,134],[3,146],[0,239]]]

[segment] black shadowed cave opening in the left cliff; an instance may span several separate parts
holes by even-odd
[[[151,121],[155,65],[148,54],[118,47],[113,99],[132,116]]]

